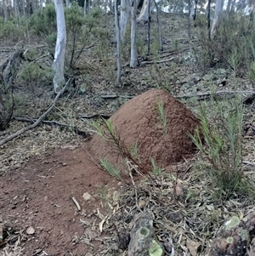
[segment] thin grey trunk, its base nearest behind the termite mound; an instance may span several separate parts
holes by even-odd
[[[121,83],[121,73],[122,73],[122,59],[121,59],[121,37],[120,37],[120,26],[118,18],[118,3],[115,0],[114,4],[114,15],[115,15],[115,26],[116,26],[116,55],[117,55],[117,77],[116,77],[116,86]]]

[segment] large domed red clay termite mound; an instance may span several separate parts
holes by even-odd
[[[121,147],[109,139],[111,136],[106,132],[108,139],[94,134],[89,149],[95,160],[107,160],[120,171],[127,169],[124,162],[130,158],[128,154],[133,155],[141,171],[148,172],[152,169],[151,159],[167,169],[173,162],[180,162],[195,152],[189,134],[194,133],[200,122],[164,90],[150,90],[127,101],[111,117],[111,122]],[[134,148],[138,153],[133,152]]]

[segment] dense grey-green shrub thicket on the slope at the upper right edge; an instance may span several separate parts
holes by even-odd
[[[203,20],[205,24],[206,20]],[[207,37],[205,26],[197,27],[201,49],[195,53],[197,63],[203,69],[208,66],[227,68],[231,55],[235,53],[238,60],[237,74],[244,69],[248,77],[254,82],[252,65],[255,58],[255,30],[254,21],[248,15],[230,14],[218,20],[212,38]],[[196,50],[195,50],[196,51]]]

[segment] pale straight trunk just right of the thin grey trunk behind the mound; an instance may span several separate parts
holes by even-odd
[[[137,47],[136,47],[136,0],[131,0],[131,58],[130,67],[136,67],[138,65],[137,60]]]

